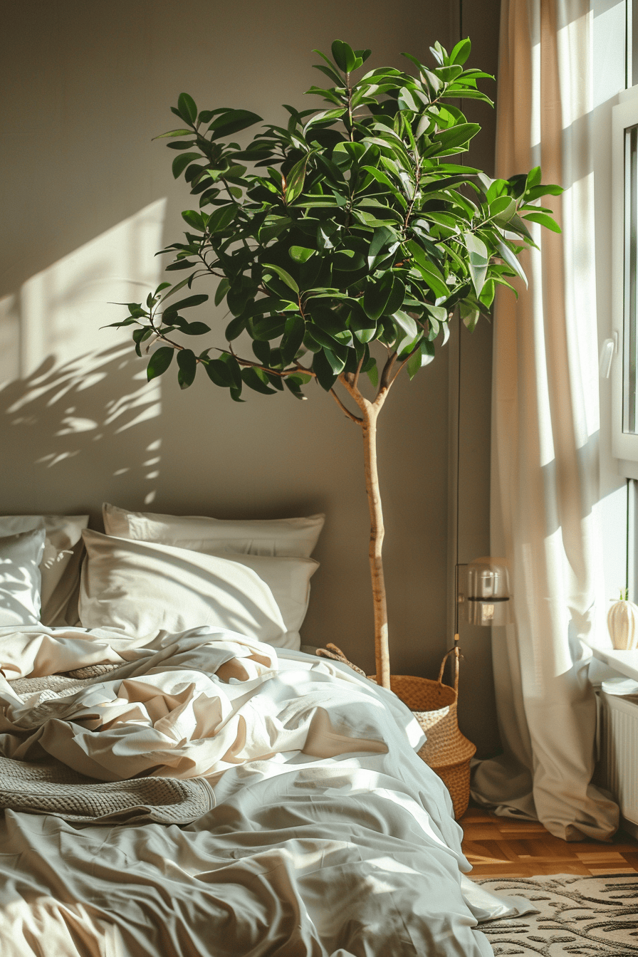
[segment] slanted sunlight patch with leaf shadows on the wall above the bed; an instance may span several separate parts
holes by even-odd
[[[0,439],[15,465],[8,501],[74,508],[84,486],[105,501],[154,500],[161,383],[147,383],[129,327],[101,327],[126,316],[116,303],[143,301],[162,281],[164,218],[161,199],[0,300]]]

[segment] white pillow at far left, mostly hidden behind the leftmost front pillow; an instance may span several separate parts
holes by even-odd
[[[89,516],[8,515],[0,517],[0,537],[30,531],[41,527],[42,522],[46,539],[40,563],[40,620],[45,625],[75,625],[77,610],[72,608],[71,599],[79,585],[81,534],[89,523]]]

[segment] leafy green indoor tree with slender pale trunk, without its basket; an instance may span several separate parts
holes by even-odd
[[[489,75],[465,69],[469,39],[451,54],[440,43],[430,50],[432,66],[406,55],[416,75],[381,68],[355,80],[370,51],[335,40],[332,59],[315,51],[331,85],[308,91],[327,108],[286,105],[287,126],[267,124],[245,148],[228,138],[260,117],[199,111],[183,93],[171,107],[180,126],[163,138],[176,151],[173,176],[184,176],[198,208],[182,213],[184,241],[163,252],[172,257],[166,271],[187,277],[163,282],[112,323],[136,326],[148,379],[175,357],[182,389],[201,367],[237,402],[245,389],[305,399],[316,380],[361,428],[377,681],[385,687],[377,419],[397,377],[413,378],[435,344],[445,344],[455,310],[472,329],[497,284],[524,279],[517,255],[534,245],[525,220],[559,231],[537,201],[561,188],[541,185],[538,167],[505,181],[455,162],[480,128],[455,104],[492,103],[476,86]],[[200,278],[216,281],[214,302],[226,300],[232,318],[225,344],[198,352],[190,344],[209,325],[183,313],[209,296],[170,297]]]

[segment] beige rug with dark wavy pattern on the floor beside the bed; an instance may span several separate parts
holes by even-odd
[[[480,925],[497,957],[638,954],[638,874],[556,874],[476,883],[493,894],[527,898],[539,910]]]

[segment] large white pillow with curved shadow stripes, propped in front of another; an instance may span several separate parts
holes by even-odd
[[[82,538],[82,627],[114,628],[142,637],[209,626],[275,647],[298,648],[298,632],[288,629],[273,591],[240,561],[88,529]]]

